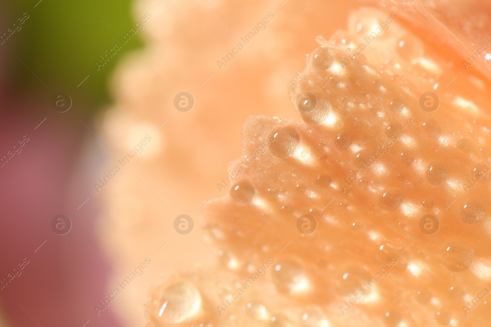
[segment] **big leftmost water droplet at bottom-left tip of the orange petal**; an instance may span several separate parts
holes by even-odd
[[[159,320],[166,324],[177,324],[198,312],[201,307],[201,295],[192,283],[183,281],[167,287],[161,303]]]

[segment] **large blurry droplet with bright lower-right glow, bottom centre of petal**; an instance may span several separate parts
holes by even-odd
[[[285,293],[296,293],[307,286],[302,267],[292,260],[278,262],[273,272],[273,281],[278,291]]]

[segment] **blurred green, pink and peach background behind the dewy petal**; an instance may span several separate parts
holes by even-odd
[[[351,24],[346,17],[358,6],[1,4],[2,324],[144,326],[140,303],[162,274],[216,264],[200,242],[200,208],[220,196],[217,183],[241,155],[241,127],[258,114],[300,121],[288,81],[316,38]],[[254,28],[260,32],[244,42]],[[194,99],[190,111],[175,107],[180,92]],[[67,111],[53,105],[59,99],[71,104]],[[21,151],[13,149],[24,137]],[[194,220],[189,235],[174,230],[181,214]],[[68,233],[55,232],[57,215],[69,218]],[[109,303],[146,258],[141,277]],[[107,310],[97,310],[101,301]]]

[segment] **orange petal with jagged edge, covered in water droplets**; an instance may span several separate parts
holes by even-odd
[[[195,223],[216,264],[166,271],[148,326],[487,326],[491,28],[443,8],[317,38],[288,86],[302,122],[247,118]]]

